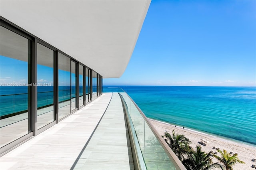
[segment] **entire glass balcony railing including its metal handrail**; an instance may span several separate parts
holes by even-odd
[[[186,169],[128,94],[126,92],[119,94],[126,112],[130,138],[132,138],[131,145],[134,146],[137,158],[135,161],[139,169]]]

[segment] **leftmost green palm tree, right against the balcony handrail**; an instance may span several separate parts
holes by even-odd
[[[162,137],[181,161],[184,160],[184,155],[186,155],[192,149],[188,145],[191,143],[190,140],[183,134],[176,135],[174,130],[172,130],[172,136],[170,133],[165,132],[164,136]]]

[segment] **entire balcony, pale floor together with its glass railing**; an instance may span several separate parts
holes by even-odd
[[[1,169],[185,169],[123,91],[103,93],[0,162]]]

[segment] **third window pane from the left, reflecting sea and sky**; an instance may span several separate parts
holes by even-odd
[[[59,80],[59,111],[58,117],[62,119],[70,114],[71,85],[70,85],[70,58],[58,53],[58,80]]]

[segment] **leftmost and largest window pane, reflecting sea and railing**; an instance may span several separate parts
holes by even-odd
[[[0,26],[0,147],[28,134],[28,44]]]

